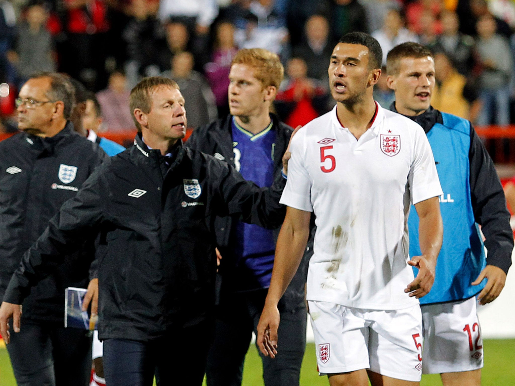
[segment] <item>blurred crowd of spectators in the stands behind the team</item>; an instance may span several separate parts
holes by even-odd
[[[97,92],[110,132],[133,130],[129,91],[142,77],[178,82],[188,126],[228,113],[238,48],[280,55],[274,109],[290,126],[333,107],[327,68],[339,37],[369,32],[384,64],[395,45],[435,54],[436,108],[477,125],[510,123],[515,99],[515,0],[2,0],[0,132],[15,130],[13,99],[28,77],[60,71]],[[393,101],[386,74],[374,97]],[[512,114],[515,118],[515,114]]]

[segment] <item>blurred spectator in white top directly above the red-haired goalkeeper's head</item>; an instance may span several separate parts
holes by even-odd
[[[239,48],[266,48],[280,55],[289,40],[286,20],[273,7],[274,0],[253,0],[248,12],[236,22]]]

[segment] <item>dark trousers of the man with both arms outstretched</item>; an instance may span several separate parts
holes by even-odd
[[[104,341],[104,378],[108,386],[201,386],[213,340],[213,322],[169,328],[166,337],[139,342]]]

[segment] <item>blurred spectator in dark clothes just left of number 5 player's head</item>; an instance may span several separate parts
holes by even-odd
[[[305,60],[308,78],[318,79],[328,89],[328,58],[334,48],[334,44],[329,41],[328,20],[315,14],[307,19],[305,31],[306,41],[294,48],[293,55]]]

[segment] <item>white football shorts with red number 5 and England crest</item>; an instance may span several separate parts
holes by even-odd
[[[419,382],[422,374],[420,306],[378,311],[308,302],[320,375],[370,369]]]

